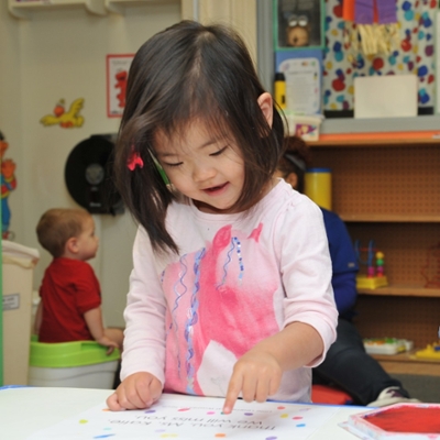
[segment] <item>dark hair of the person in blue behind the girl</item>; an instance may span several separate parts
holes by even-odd
[[[311,165],[311,152],[309,146],[301,138],[292,136],[287,142],[287,147],[279,158],[277,169],[286,178],[290,173],[295,173],[298,182],[296,189],[304,193],[304,175]]]

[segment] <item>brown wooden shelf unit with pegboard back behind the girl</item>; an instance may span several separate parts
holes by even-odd
[[[385,254],[388,286],[359,290],[356,327],[363,337],[405,338],[426,348],[440,324],[440,287],[426,288],[422,276],[429,249],[440,243],[440,140],[322,138],[310,145],[314,166],[332,168],[332,209],[353,242],[374,240]],[[439,260],[431,263],[440,271]],[[413,353],[377,359],[389,372],[440,375],[439,361]]]

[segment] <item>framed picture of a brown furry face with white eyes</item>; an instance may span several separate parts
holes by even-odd
[[[323,0],[273,0],[273,4],[275,51],[324,46]]]

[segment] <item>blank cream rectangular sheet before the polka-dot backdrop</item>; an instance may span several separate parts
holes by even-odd
[[[354,78],[354,118],[417,117],[416,75]]]

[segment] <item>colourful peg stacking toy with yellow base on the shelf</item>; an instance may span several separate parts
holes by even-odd
[[[384,287],[388,285],[388,279],[384,272],[384,253],[374,246],[374,241],[370,240],[367,248],[361,248],[359,240],[354,243],[358,261],[366,265],[366,275],[356,276],[358,288]],[[366,261],[361,258],[361,252],[366,251]]]

